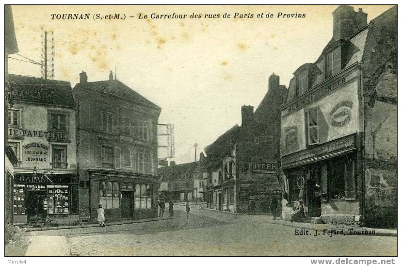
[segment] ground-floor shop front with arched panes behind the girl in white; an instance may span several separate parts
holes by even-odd
[[[156,217],[158,183],[146,178],[94,174],[90,181],[91,218],[96,220],[99,204],[106,220]]]

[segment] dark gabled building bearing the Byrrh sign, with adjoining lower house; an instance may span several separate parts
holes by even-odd
[[[266,213],[271,198],[282,197],[278,175],[280,105],[286,94],[279,76],[272,74],[256,111],[252,106],[242,106],[241,127],[234,126],[205,148],[209,162],[208,208]]]

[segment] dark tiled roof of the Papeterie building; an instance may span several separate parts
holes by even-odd
[[[9,75],[14,100],[75,108],[71,84],[67,81]]]

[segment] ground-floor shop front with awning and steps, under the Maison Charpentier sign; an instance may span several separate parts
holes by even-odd
[[[288,207],[294,208],[302,200],[307,217],[321,217],[328,223],[359,222],[358,139],[359,134],[353,134],[283,157]],[[289,220],[292,209],[285,209]]]

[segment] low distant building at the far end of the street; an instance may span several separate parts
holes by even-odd
[[[171,161],[169,166],[159,168],[162,177],[160,198],[177,201],[204,201],[204,187],[207,182],[207,170],[204,166],[204,154],[193,163],[178,164]]]

